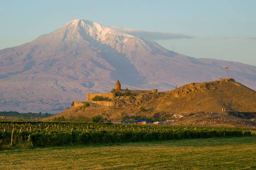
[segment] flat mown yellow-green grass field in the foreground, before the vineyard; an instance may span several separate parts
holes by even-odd
[[[256,136],[0,151],[0,169],[256,169]]]

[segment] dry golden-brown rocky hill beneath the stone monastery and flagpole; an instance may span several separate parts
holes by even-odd
[[[256,117],[256,91],[235,82],[234,79],[190,83],[172,91],[126,96],[113,99],[112,102],[115,107],[69,108],[50,119],[64,116],[77,120],[79,116],[102,115],[116,121],[132,116],[146,116],[155,120],[160,120],[160,117],[175,119],[173,124],[256,125],[256,122],[252,121]],[[145,111],[141,111],[141,107],[144,107]]]

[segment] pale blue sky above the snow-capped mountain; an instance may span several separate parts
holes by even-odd
[[[191,57],[256,66],[255,8],[256,0],[1,0],[0,49],[81,18],[105,26],[193,36],[156,41]]]

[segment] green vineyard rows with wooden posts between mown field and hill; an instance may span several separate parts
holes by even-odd
[[[61,146],[250,135],[250,131],[228,128],[66,122],[0,122],[0,146]]]

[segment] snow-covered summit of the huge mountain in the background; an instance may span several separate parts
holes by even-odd
[[[116,48],[119,52],[122,50],[120,49],[122,44],[128,39],[131,40],[134,45],[138,40],[137,37],[128,34],[121,28],[103,26],[100,23],[84,19],[73,19],[61,28],[47,34],[47,37],[51,37],[50,39],[55,40],[55,44],[87,41],[93,46],[97,43],[103,43],[112,48]],[[141,42],[143,41],[141,40]]]

